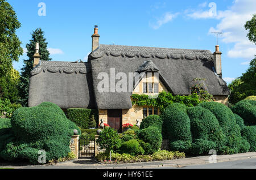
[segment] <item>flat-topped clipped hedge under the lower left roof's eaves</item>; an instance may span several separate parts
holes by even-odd
[[[81,128],[89,128],[90,118],[94,115],[95,121],[98,125],[98,110],[85,108],[69,108],[67,109],[67,118],[75,122]]]

